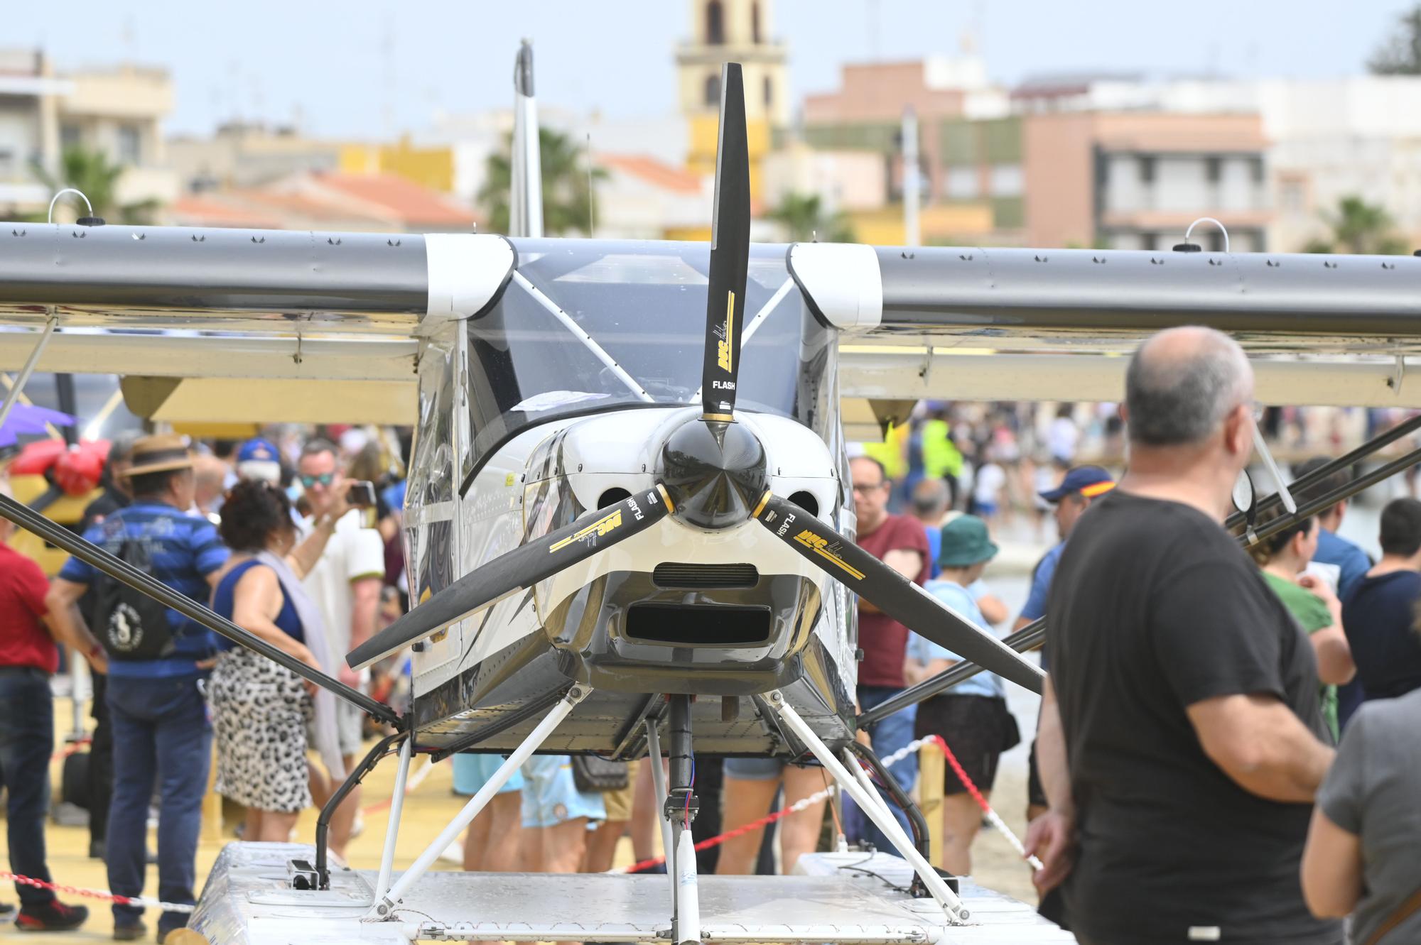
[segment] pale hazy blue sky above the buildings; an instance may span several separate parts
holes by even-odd
[[[764,1],[764,0],[762,0]],[[1164,75],[1360,72],[1411,0],[774,0],[796,101],[838,67],[952,52],[975,28],[995,79],[1064,70]],[[240,115],[315,135],[418,131],[438,111],[506,106],[520,37],[539,98],[612,116],[675,109],[688,0],[71,0],[6,4],[6,45],[60,70],[131,58],[172,71],[172,132]]]

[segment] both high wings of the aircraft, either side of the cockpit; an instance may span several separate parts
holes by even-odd
[[[796,244],[851,400],[1113,400],[1158,328],[1250,353],[1266,403],[1421,407],[1421,260]],[[516,264],[475,234],[0,224],[0,370],[124,375],[156,420],[408,423],[419,336]],[[252,380],[263,383],[253,385]]]

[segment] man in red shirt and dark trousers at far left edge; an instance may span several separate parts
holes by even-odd
[[[0,491],[9,494],[7,487]],[[51,883],[44,863],[44,814],[50,806],[50,755],[54,751],[54,698],[50,675],[60,650],[47,630],[44,595],[50,582],[33,560],[4,542],[14,525],[0,521],[0,788],[9,792],[10,871]],[[98,643],[65,640],[104,667]],[[65,905],[54,892],[16,883],[24,931],[78,928],[88,918],[82,905]]]

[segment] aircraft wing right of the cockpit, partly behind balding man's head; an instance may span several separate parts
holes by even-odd
[[[1421,260],[1376,255],[796,244],[844,329],[845,396],[1115,400],[1145,335],[1209,325],[1265,403],[1421,406]]]

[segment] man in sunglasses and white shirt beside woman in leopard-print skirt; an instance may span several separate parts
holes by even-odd
[[[296,468],[297,481],[311,507],[311,516],[301,524],[303,531],[310,532],[323,524],[328,526],[328,522],[323,522],[328,515],[327,509],[348,488],[335,444],[320,438],[308,441]],[[325,552],[303,583],[325,619],[331,653],[341,657],[341,681],[364,690],[369,685],[369,670],[354,673],[345,665],[344,656],[368,640],[375,630],[379,587],[385,579],[385,543],[379,532],[365,528],[364,512],[358,508],[344,514],[334,528]],[[360,755],[364,717],[345,701],[337,702],[335,709],[345,770],[352,770]],[[313,783],[315,803],[324,803],[338,786]],[[342,857],[360,810],[360,788],[352,790],[331,817],[331,850]]]

